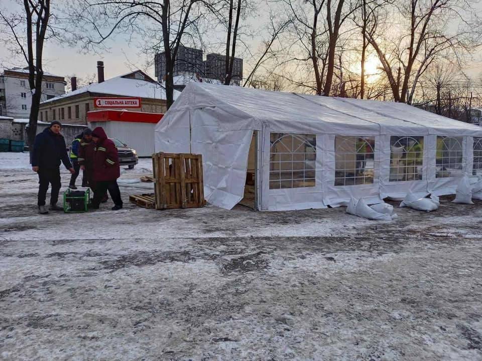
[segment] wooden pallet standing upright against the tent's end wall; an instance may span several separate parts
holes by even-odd
[[[152,155],[155,208],[203,207],[202,156],[190,153]]]

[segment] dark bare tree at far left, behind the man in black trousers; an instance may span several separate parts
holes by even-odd
[[[20,8],[20,7],[19,7]],[[32,94],[29,127],[27,131],[30,150],[37,135],[37,120],[42,96],[43,52],[46,39],[54,36],[50,0],[23,0],[23,9],[14,12],[0,10],[0,42],[14,56],[19,55],[29,68],[29,88]]]

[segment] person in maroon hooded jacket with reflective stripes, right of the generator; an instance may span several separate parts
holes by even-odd
[[[121,191],[119,191],[117,185],[117,178],[121,176],[117,148],[114,142],[107,138],[102,127],[97,127],[92,131],[92,139],[95,142],[92,171],[95,189],[90,208],[98,209],[105,192],[108,190],[110,198],[114,202],[112,211],[117,211],[123,205]]]

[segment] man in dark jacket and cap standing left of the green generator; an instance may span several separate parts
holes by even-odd
[[[49,183],[52,186],[50,194],[51,211],[62,211],[63,208],[57,206],[60,191],[60,162],[64,166],[75,173],[70,163],[67,149],[65,147],[65,139],[60,134],[60,122],[54,120],[50,123],[50,127],[46,128],[42,133],[37,134],[32,150],[32,170],[39,174],[39,194],[37,205],[40,214],[47,214],[49,211],[45,207],[45,198]]]

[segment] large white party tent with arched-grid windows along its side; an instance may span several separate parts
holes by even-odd
[[[205,198],[226,209],[249,171],[255,207],[273,211],[453,194],[482,173],[475,125],[403,103],[194,82],[157,124],[155,150],[202,154]]]

